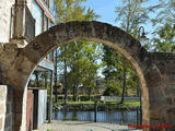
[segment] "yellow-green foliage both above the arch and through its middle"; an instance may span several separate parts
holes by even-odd
[[[57,3],[58,24],[69,21],[92,21],[98,17],[94,10],[82,5],[86,0],[55,1]],[[59,53],[56,55],[58,64],[55,67],[59,67],[59,72],[63,74],[65,94],[67,94],[66,88],[72,90],[74,100],[77,100],[78,87],[80,85],[88,87],[89,96],[91,96],[95,87],[93,79],[96,76],[98,69],[98,64],[96,63],[100,56],[98,47],[96,43],[77,39],[58,49]]]

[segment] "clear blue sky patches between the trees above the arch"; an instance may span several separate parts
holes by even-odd
[[[122,5],[122,0],[88,0],[85,2],[86,8],[91,8],[95,11],[96,14],[101,15],[97,21],[105,22],[113,24],[115,26],[119,26],[118,23],[115,23],[115,7]],[[150,0],[145,3],[145,5],[153,5],[156,4],[159,0]],[[155,14],[152,14],[152,16],[155,16]],[[144,25],[141,25],[144,27],[145,32],[149,33],[148,37],[152,37],[151,31],[152,31],[152,24],[148,23]]]

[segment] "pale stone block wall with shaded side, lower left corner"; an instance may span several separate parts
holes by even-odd
[[[0,131],[13,129],[13,90],[0,85]]]

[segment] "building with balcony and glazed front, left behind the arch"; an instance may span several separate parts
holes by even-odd
[[[56,3],[54,0],[2,0],[0,1],[0,29],[3,31],[0,35],[0,43],[24,48],[35,36],[56,24]],[[38,63],[36,71],[50,72],[50,78],[52,78],[54,52],[48,53]],[[32,75],[31,79],[33,78]],[[48,82],[51,84],[51,80]],[[47,102],[47,88],[28,86],[27,130],[37,129],[46,121],[49,114]]]

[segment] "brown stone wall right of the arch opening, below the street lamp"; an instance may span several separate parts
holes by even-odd
[[[149,81],[150,95],[150,124],[173,126],[174,128],[166,128],[164,130],[174,131],[175,55],[168,52],[152,52],[151,56],[152,62],[158,69],[152,70],[147,78]]]

